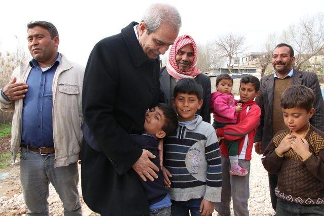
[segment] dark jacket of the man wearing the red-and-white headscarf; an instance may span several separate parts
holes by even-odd
[[[167,67],[160,68],[160,85],[161,92],[163,93],[165,103],[168,103],[172,106],[172,98],[170,97],[170,79],[171,76],[167,71]],[[208,123],[211,122],[211,78],[209,76],[200,73],[197,75],[194,80],[203,87],[203,106],[197,110],[196,114],[203,117],[203,121]]]

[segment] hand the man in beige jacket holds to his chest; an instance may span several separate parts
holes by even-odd
[[[28,85],[26,83],[16,83],[16,81],[17,78],[14,77],[3,89],[9,101],[22,99],[25,97],[25,93],[28,92]]]

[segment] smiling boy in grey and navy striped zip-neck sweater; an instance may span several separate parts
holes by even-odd
[[[189,210],[191,216],[211,215],[214,203],[220,202],[222,170],[215,129],[195,115],[202,98],[203,89],[194,79],[181,79],[174,88],[179,126],[164,140],[164,175],[172,215],[189,215]]]

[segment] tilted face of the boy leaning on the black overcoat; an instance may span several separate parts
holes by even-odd
[[[145,113],[144,132],[155,135],[157,138],[163,138],[165,132],[162,127],[165,124],[165,116],[162,110],[157,106],[149,109]],[[163,136],[163,137],[161,137]]]

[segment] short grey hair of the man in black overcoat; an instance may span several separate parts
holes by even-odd
[[[169,4],[152,4],[143,14],[141,22],[147,26],[147,34],[156,31],[164,22],[176,31],[180,30],[181,17],[178,10]]]

